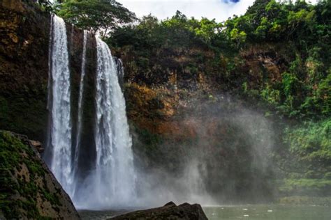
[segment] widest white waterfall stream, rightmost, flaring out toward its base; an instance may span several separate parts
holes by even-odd
[[[132,141],[117,66],[99,38],[96,74],[96,203],[128,205],[135,200]]]

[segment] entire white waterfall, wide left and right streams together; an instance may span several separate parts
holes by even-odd
[[[84,94],[89,93],[84,91],[84,84],[88,83],[85,83],[88,79],[85,77],[87,35],[87,31],[84,31],[78,112],[71,113],[71,76],[66,24],[56,15],[52,17],[47,104],[50,111],[50,127],[45,159],[76,207],[96,210],[127,207],[136,202],[132,141],[128,130],[124,95],[119,86],[119,70],[108,45],[99,38],[96,38],[95,125],[89,125],[91,132],[94,129],[95,145],[89,143],[88,149],[89,152],[95,150],[96,158],[95,161],[94,157],[89,157],[88,160],[80,158]],[[77,117],[74,141],[71,136],[71,116]],[[80,171],[80,159],[86,159],[86,164],[95,163],[88,171]],[[78,180],[80,174],[82,177]]]

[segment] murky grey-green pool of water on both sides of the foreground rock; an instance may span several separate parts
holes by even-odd
[[[82,219],[110,219],[134,210],[80,210]],[[314,205],[234,205],[203,207],[209,220],[331,220],[331,207]]]

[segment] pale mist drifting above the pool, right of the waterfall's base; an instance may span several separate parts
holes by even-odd
[[[186,101],[193,109],[177,119],[179,136],[159,137],[162,143],[154,145],[152,156],[140,151],[145,143],[133,130],[140,204],[271,201],[272,122],[230,96]]]

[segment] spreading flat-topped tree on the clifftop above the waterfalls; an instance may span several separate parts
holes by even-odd
[[[119,24],[135,20],[135,14],[115,0],[67,0],[54,7],[66,22],[100,33],[102,38]]]

